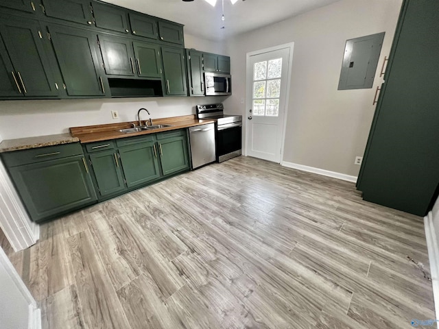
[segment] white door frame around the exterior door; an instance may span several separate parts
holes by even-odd
[[[293,53],[294,53],[294,42],[288,42],[288,43],[284,43],[283,45],[278,45],[278,46],[274,46],[274,47],[269,47],[269,48],[265,48],[265,49],[260,49],[257,51],[250,51],[249,53],[247,53],[246,56],[246,77],[247,77],[247,73],[248,71],[250,71],[250,69],[252,69],[251,65],[250,65],[250,56],[255,56],[255,55],[259,55],[260,53],[269,53],[270,51],[276,51],[276,50],[281,50],[281,49],[289,49],[289,60],[288,60],[288,75],[287,75],[287,88],[286,88],[286,93],[287,95],[285,95],[285,113],[284,113],[284,117],[283,117],[283,132],[282,132],[282,142],[281,142],[281,163],[283,162],[283,152],[285,150],[285,134],[286,134],[286,130],[287,130],[287,117],[288,117],[288,108],[289,108],[289,89],[291,87],[291,76],[292,76],[292,65],[293,65]],[[249,110],[249,106],[251,106],[250,104],[248,104],[248,99],[250,99],[249,95],[249,91],[250,90],[248,88],[248,81],[246,81],[246,112],[245,112],[245,116],[244,116],[244,120],[246,121],[246,149],[244,150],[244,156],[248,156],[248,133],[249,133],[249,129],[248,129],[248,110]]]

